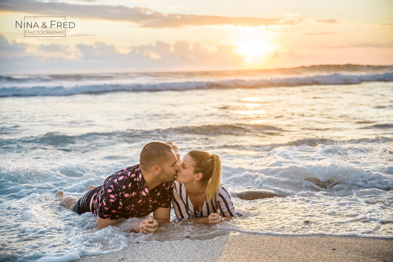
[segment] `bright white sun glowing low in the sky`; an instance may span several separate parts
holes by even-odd
[[[273,45],[265,40],[251,40],[234,43],[237,47],[234,51],[245,56],[246,62],[260,60],[266,57],[268,53],[274,51]]]

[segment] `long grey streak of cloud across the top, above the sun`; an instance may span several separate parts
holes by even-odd
[[[184,26],[233,25],[270,26],[294,25],[302,19],[281,19],[261,17],[231,17],[220,15],[164,14],[142,7],[107,5],[76,5],[60,2],[39,2],[37,0],[4,0],[0,2],[1,11],[28,12],[46,16],[67,16],[96,18],[105,20],[124,20],[147,28],[179,28]]]

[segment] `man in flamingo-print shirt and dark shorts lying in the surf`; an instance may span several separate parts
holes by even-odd
[[[151,142],[140,154],[140,164],[127,167],[108,177],[103,186],[90,186],[89,191],[79,200],[56,194],[60,205],[78,214],[97,214],[96,226],[113,226],[118,219],[146,216],[153,217],[141,221],[130,229],[134,232],[153,233],[158,227],[169,222],[172,182],[176,178],[179,152],[172,143]]]

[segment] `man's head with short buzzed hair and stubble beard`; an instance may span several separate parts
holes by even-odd
[[[145,145],[139,157],[143,172],[154,172],[161,182],[173,182],[178,173],[177,157],[172,148],[164,143],[151,142]]]

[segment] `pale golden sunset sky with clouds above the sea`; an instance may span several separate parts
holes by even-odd
[[[392,0],[0,0],[2,75],[348,63],[393,64]]]

